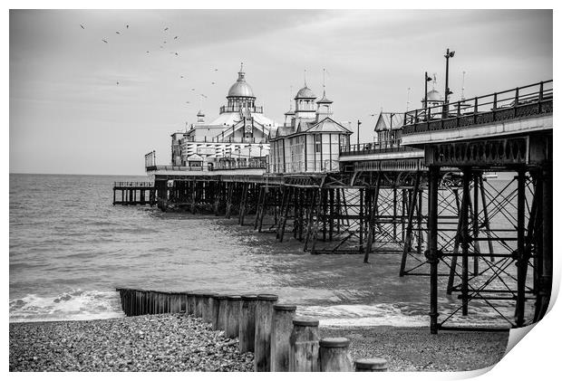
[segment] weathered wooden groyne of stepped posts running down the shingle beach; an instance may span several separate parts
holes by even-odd
[[[320,338],[318,320],[296,316],[296,306],[276,295],[225,295],[118,288],[126,316],[184,313],[238,338],[240,352],[254,352],[257,372],[381,372],[383,358],[355,361],[348,338]]]

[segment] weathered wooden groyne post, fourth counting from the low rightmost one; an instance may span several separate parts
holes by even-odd
[[[276,304],[273,306],[271,326],[271,371],[289,371],[289,338],[293,330],[296,306]]]

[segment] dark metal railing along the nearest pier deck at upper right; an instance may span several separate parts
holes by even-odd
[[[553,81],[494,92],[404,113],[402,135],[516,119],[552,112]]]

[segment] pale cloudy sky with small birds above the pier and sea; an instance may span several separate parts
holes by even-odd
[[[424,71],[443,93],[447,48],[452,100],[462,71],[466,98],[552,79],[552,27],[549,10],[11,10],[10,172],[170,164],[170,133],[218,116],[240,62],[280,123],[325,69],[334,119],[372,141],[381,110],[421,107]]]

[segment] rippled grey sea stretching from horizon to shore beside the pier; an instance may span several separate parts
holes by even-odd
[[[10,175],[10,322],[123,317],[115,289],[130,287],[276,293],[334,327],[429,326],[429,278],[399,277],[399,254],[373,253],[368,264],[363,255],[311,255],[237,218],[112,205],[114,181],[147,180]],[[439,302],[445,312],[459,306],[445,292]],[[484,303],[470,314],[496,321]]]

